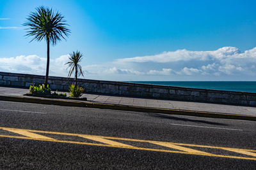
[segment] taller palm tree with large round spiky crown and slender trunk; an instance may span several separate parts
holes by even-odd
[[[70,30],[65,24],[64,17],[58,11],[53,11],[52,8],[40,6],[36,8],[35,12],[32,12],[26,18],[28,21],[23,25],[28,26],[26,30],[28,34],[26,36],[33,36],[33,40],[47,41],[47,65],[45,74],[45,85],[48,84],[49,75],[49,62],[50,62],[50,43],[56,45],[57,41],[61,38],[65,39],[68,36]]]

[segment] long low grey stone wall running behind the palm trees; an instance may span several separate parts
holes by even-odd
[[[72,82],[74,82],[73,78],[49,76],[49,85],[52,90],[67,91],[68,85]],[[0,72],[0,85],[29,87],[32,83],[35,85],[44,83],[44,76]],[[256,93],[249,92],[193,89],[88,79],[79,79],[78,84],[84,87],[86,93],[256,106]]]

